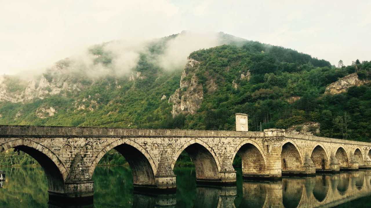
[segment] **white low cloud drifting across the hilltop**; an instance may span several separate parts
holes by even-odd
[[[103,53],[108,54],[111,58],[110,63],[107,65],[100,62],[97,63],[96,59],[104,57],[93,54],[91,47],[89,47],[83,50],[83,52],[69,57],[69,67],[67,67],[64,72],[58,71],[57,73],[84,72],[89,78],[97,78],[106,75],[127,76],[135,71],[135,67],[137,67],[141,55],[146,56],[147,61],[150,61],[166,71],[179,70],[185,66],[187,57],[193,51],[223,44],[223,42],[220,41],[219,33],[211,32],[195,33],[183,31],[174,38],[164,41],[163,43],[161,43],[161,41],[163,41],[163,39],[146,41],[126,39],[103,43],[101,46],[98,45]],[[148,46],[154,42],[164,44],[164,50],[161,53],[151,54],[148,50]],[[60,64],[60,62],[58,64]],[[48,69],[51,69],[51,71],[55,73],[53,67],[49,67]],[[59,68],[56,70],[59,70]],[[39,70],[38,72],[38,75],[40,75],[45,71]],[[29,77],[29,75],[24,77]]]

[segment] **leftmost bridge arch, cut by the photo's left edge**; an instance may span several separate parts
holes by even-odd
[[[16,148],[17,150],[25,152],[39,162],[48,179],[49,191],[64,191],[64,182],[67,178],[68,171],[58,156],[51,150],[38,142],[24,138],[1,144],[0,151],[6,151],[10,148]]]

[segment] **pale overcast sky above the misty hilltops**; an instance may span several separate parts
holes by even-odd
[[[337,65],[371,60],[371,1],[0,0],[0,73],[42,70],[87,46],[182,30],[232,34]]]

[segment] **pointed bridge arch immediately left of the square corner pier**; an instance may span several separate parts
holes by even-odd
[[[243,141],[232,157],[232,161],[237,152],[242,160],[243,174],[262,174],[266,171],[266,159],[259,145],[251,140]]]

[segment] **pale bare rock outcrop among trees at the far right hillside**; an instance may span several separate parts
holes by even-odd
[[[338,81],[327,86],[325,94],[339,94],[344,93],[349,87],[359,86],[369,81],[360,80],[357,73],[349,74]]]

